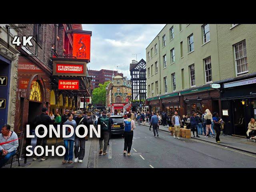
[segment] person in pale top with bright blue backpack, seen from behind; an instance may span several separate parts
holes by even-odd
[[[132,138],[133,138],[133,130],[135,127],[134,120],[131,120],[132,114],[127,114],[127,119],[124,120],[124,155],[128,152],[128,156],[130,156],[130,150],[132,148]]]

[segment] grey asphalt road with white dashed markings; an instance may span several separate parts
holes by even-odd
[[[209,138],[215,139],[215,138]],[[136,125],[131,156],[123,156],[124,139],[113,136],[107,155],[99,155],[98,138],[92,138],[88,168],[255,168],[256,156],[194,139],[173,138]]]

